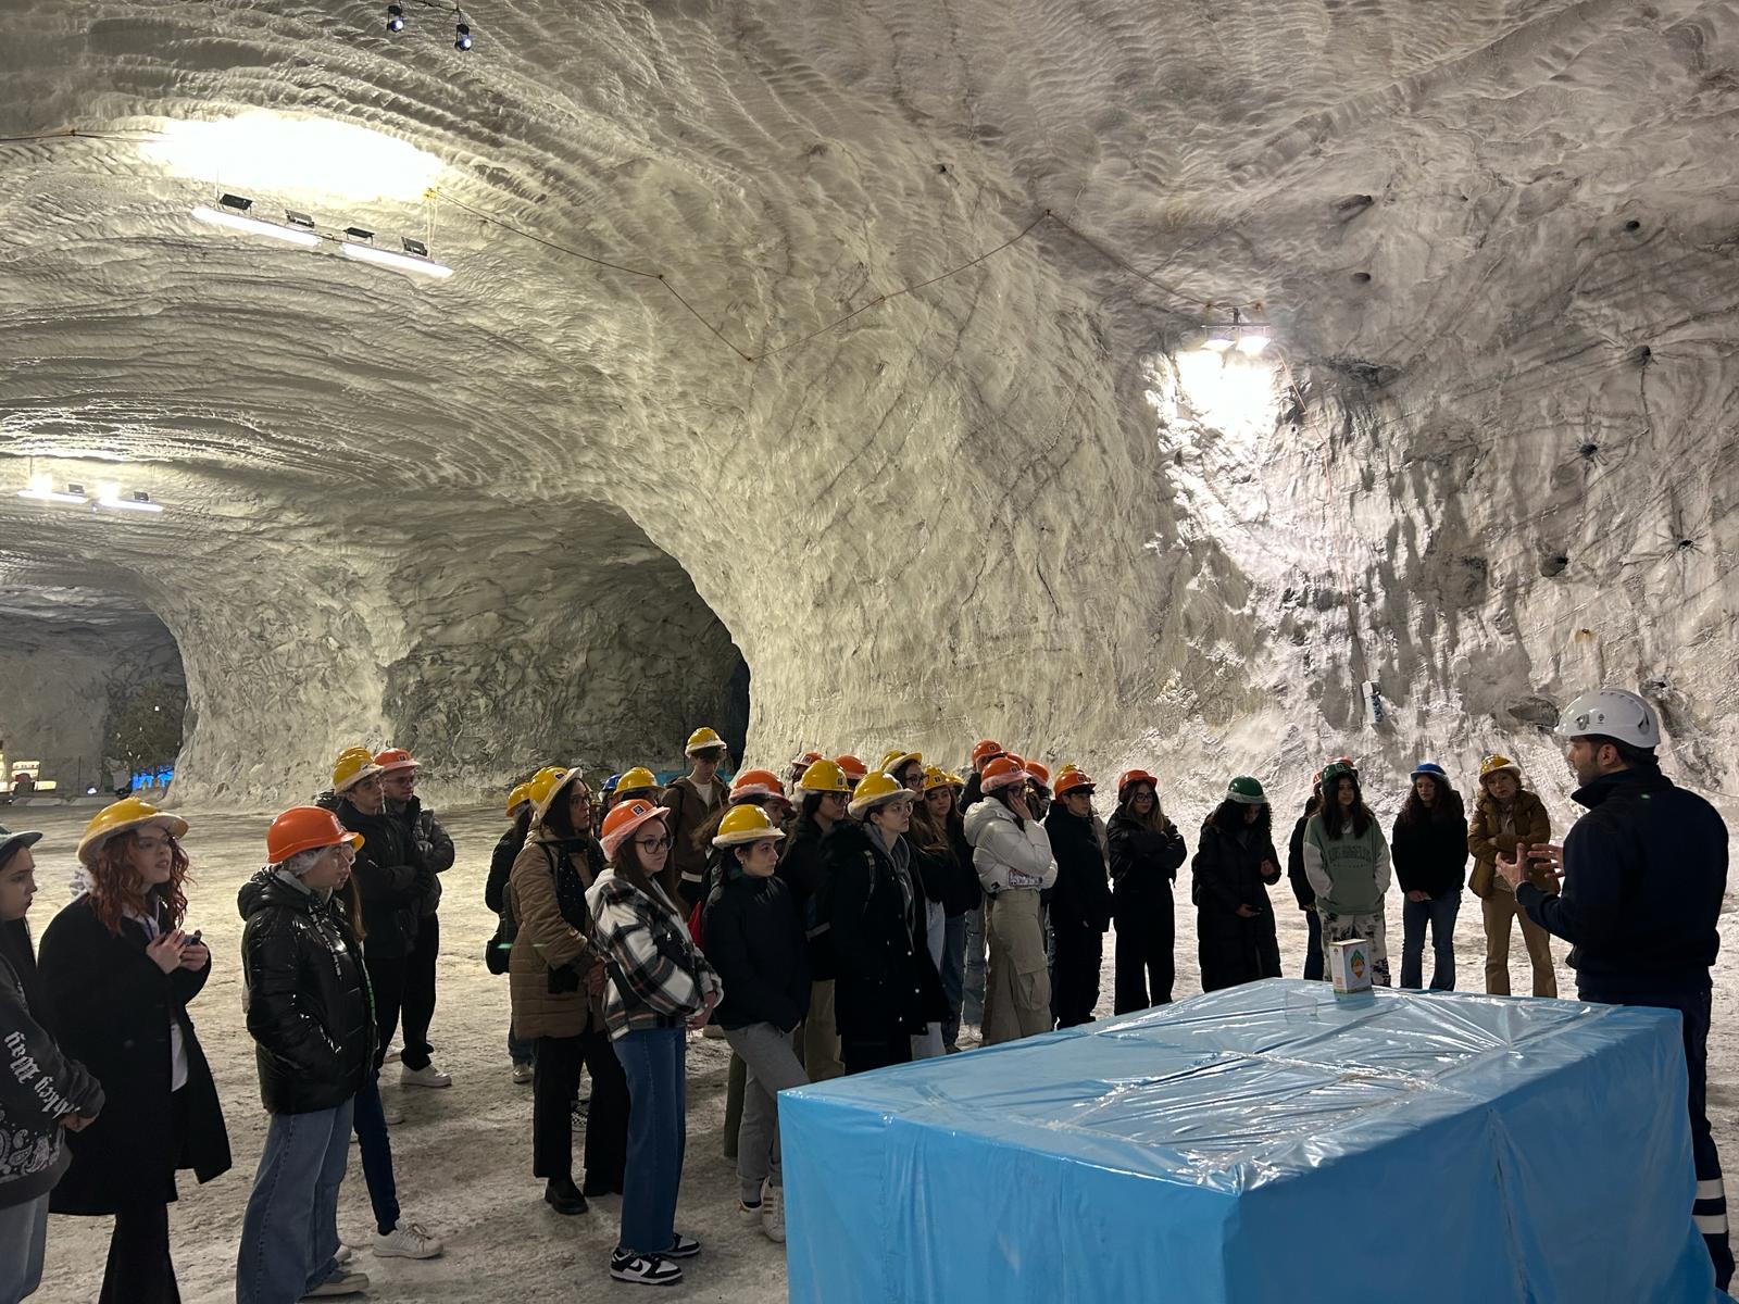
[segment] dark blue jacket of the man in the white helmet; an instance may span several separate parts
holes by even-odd
[[[1522,883],[1516,901],[1576,944],[1581,988],[1706,989],[1727,892],[1727,826],[1715,807],[1659,770],[1603,774],[1574,798],[1588,814],[1563,840],[1563,892]]]

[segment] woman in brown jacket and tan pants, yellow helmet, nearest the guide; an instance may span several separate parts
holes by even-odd
[[[1551,815],[1546,803],[1522,786],[1522,767],[1508,756],[1480,762],[1480,796],[1468,822],[1468,850],[1473,854],[1473,895],[1480,897],[1485,916],[1485,991],[1509,995],[1511,921],[1522,921],[1522,941],[1534,967],[1534,995],[1556,996],[1558,972],[1551,965],[1551,937],[1516,902],[1516,894],[1497,873],[1497,857],[1513,855],[1516,847],[1551,842]],[[1558,882],[1544,866],[1534,866],[1532,883],[1541,892],[1556,892]]]

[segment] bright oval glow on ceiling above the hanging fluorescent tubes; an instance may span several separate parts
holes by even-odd
[[[332,118],[252,111],[217,122],[165,122],[139,151],[177,176],[243,195],[421,200],[445,170],[440,158],[384,132]]]

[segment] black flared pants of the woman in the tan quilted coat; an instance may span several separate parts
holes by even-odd
[[[532,1177],[574,1177],[574,1101],[591,1071],[586,1109],[586,1194],[623,1189],[628,1165],[628,1078],[605,1031],[539,1036],[532,1055]]]

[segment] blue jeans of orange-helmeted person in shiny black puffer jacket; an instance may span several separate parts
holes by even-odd
[[[296,1304],[339,1271],[337,1188],[350,1158],[351,1101],[273,1114],[242,1215],[237,1304]]]

